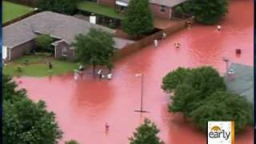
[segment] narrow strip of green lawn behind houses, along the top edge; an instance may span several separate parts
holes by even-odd
[[[88,11],[94,14],[105,15],[110,18],[122,19],[122,15],[118,14],[114,8],[110,6],[98,5],[96,2],[78,2],[78,10]]]

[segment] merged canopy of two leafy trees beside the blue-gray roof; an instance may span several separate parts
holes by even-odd
[[[201,130],[210,120],[234,120],[236,132],[252,123],[250,103],[227,92],[224,79],[210,66],[173,70],[163,78],[162,89],[173,92],[168,110],[182,112]]]

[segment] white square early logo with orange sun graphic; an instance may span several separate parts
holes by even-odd
[[[208,144],[234,144],[234,122],[208,122]]]

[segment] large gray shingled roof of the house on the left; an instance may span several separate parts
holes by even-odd
[[[36,37],[36,33],[40,33],[50,34],[71,43],[74,42],[76,35],[87,34],[91,27],[100,28],[112,34],[115,32],[104,26],[94,25],[72,16],[45,11],[3,27],[2,40],[4,46],[12,48],[24,42],[29,42]],[[114,40],[117,43],[117,48],[125,46],[127,42],[132,43],[132,41],[121,38],[114,38]]]

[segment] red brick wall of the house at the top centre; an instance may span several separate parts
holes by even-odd
[[[170,19],[171,17],[171,8],[170,7],[165,7],[165,12],[161,12],[161,6],[160,5],[155,5],[155,4],[150,4],[151,10],[152,10],[152,14],[154,15],[154,17],[159,17],[159,18],[166,18],[166,19]]]

